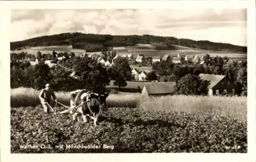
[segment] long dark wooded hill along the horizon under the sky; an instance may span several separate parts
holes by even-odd
[[[108,46],[133,46],[135,44],[160,43],[166,49],[175,49],[173,45],[181,45],[191,48],[220,50],[231,52],[247,52],[247,47],[232,45],[228,43],[215,43],[210,41],[195,41],[190,39],[178,39],[175,37],[160,37],[153,35],[129,35],[112,36],[83,33],[63,33],[51,36],[41,36],[24,41],[11,42],[11,50],[19,50],[23,47],[52,46],[52,45],[72,45],[73,48],[85,49],[88,52],[101,51]]]

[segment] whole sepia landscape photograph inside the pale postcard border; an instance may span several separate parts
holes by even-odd
[[[248,9],[207,7],[10,9],[10,153],[248,153]]]

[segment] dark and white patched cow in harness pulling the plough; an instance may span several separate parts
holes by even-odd
[[[99,112],[101,109],[105,109],[106,98],[108,96],[108,93],[94,93],[87,90],[77,90],[71,93],[71,109],[79,105],[70,111],[70,114],[73,115],[73,120],[77,118],[79,121],[77,116],[78,114],[81,114],[83,122],[87,122],[87,116],[89,116],[90,118],[94,119],[94,125],[96,126]],[[93,116],[90,116],[90,114]]]

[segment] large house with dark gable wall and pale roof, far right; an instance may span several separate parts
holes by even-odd
[[[237,85],[232,83],[226,75],[215,75],[215,74],[199,74],[203,80],[210,81],[208,86],[208,95],[220,95],[220,94],[236,94]]]

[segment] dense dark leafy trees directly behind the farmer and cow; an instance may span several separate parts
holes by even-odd
[[[111,79],[115,80],[114,85],[120,88],[126,86],[126,80],[132,78],[128,61],[123,58],[117,59],[111,68],[89,57],[70,58],[52,67],[44,61],[31,66],[30,62],[16,60],[12,60],[10,66],[11,88],[27,87],[39,90],[44,88],[46,83],[51,83],[54,91],[88,89],[104,92]],[[71,76],[73,72],[77,78]]]

